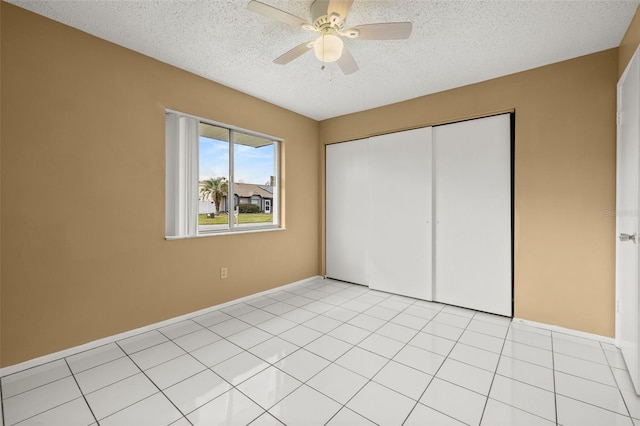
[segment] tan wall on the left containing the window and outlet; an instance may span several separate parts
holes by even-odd
[[[1,7],[2,366],[319,273],[316,121]],[[285,138],[286,231],[165,241],[165,108]]]

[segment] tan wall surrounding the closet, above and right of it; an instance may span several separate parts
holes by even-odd
[[[515,316],[613,336],[617,69],[611,49],[326,120],[320,140],[515,110]]]

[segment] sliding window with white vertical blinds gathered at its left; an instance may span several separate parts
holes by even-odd
[[[280,143],[168,111],[166,237],[280,228]]]

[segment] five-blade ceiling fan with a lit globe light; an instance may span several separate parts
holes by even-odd
[[[302,43],[276,58],[273,61],[276,64],[288,64],[313,49],[316,58],[323,63],[322,69],[326,62],[337,62],[344,74],[352,74],[358,71],[358,64],[344,46],[341,37],[359,40],[406,39],[411,35],[413,27],[411,22],[386,22],[345,29],[352,4],[353,0],[315,0],[311,4],[313,23],[257,0],[251,0],[247,8],[267,18],[318,34],[315,40]]]

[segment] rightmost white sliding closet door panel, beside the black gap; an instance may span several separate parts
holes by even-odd
[[[435,294],[511,316],[509,114],[433,128]]]

